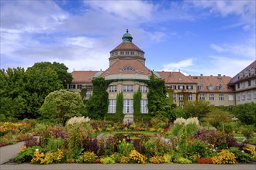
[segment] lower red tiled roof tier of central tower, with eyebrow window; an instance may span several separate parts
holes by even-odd
[[[125,68],[131,68],[132,70],[125,70]],[[151,75],[151,71],[140,63],[137,59],[118,59],[116,63],[113,63],[109,68],[102,73],[102,77],[112,74],[143,74]]]

